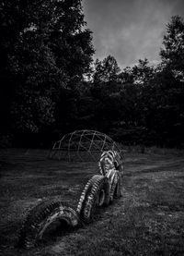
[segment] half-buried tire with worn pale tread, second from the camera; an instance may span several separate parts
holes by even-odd
[[[109,205],[109,189],[108,177],[95,175],[86,183],[77,207],[77,213],[84,223],[93,220],[96,207]]]

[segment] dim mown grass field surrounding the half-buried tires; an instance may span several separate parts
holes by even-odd
[[[184,255],[184,152],[125,153],[121,199],[88,226],[57,230],[32,250],[17,250],[21,223],[44,199],[75,208],[97,163],[64,163],[40,150],[0,152],[1,255]]]

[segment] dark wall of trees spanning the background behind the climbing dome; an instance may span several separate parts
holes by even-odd
[[[0,3],[0,141],[51,146],[89,128],[126,144],[184,146],[184,21],[167,23],[160,63],[93,61],[81,0]],[[126,50],[126,49],[125,49]]]

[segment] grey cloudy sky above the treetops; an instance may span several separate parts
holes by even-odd
[[[119,67],[132,67],[159,52],[172,16],[184,18],[184,0],[83,0],[87,28],[93,31],[94,59],[113,55]]]

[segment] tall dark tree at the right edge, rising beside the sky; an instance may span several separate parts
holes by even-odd
[[[165,146],[178,146],[184,141],[183,35],[182,18],[171,18],[160,51],[162,62],[155,68],[149,86],[142,91],[145,126],[153,130],[158,143]]]

